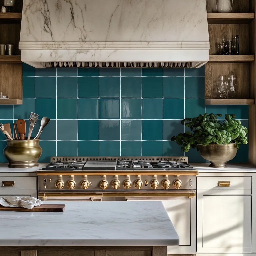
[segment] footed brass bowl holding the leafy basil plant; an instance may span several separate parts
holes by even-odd
[[[232,160],[237,154],[236,144],[234,143],[225,145],[200,145],[199,151],[204,159],[211,162],[209,167],[214,168],[226,168],[226,163]]]

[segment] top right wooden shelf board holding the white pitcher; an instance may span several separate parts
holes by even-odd
[[[246,24],[255,19],[254,13],[207,13],[208,24]]]

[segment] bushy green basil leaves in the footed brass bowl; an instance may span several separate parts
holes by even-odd
[[[247,144],[248,129],[241,125],[234,114],[226,114],[224,121],[218,121],[221,114],[204,114],[195,118],[186,118],[181,124],[189,127],[192,132],[179,133],[171,138],[179,145],[182,151],[188,152],[190,148],[197,148],[198,145],[209,144],[230,144],[235,143],[237,150],[241,143]]]

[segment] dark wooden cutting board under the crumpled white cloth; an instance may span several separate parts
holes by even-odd
[[[63,212],[66,205],[48,205],[42,204],[35,206],[33,209],[19,208],[19,207],[4,207],[0,205],[0,211],[33,211],[33,212]]]

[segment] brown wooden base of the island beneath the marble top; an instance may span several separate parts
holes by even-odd
[[[0,247],[0,256],[167,256],[167,246]]]

